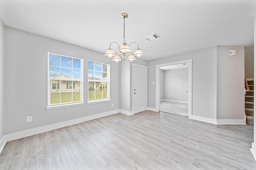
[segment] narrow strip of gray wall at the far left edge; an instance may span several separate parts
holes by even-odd
[[[4,84],[5,84],[5,57],[4,57],[4,24],[0,19],[0,140],[4,135]]]

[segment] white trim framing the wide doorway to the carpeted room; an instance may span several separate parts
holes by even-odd
[[[160,103],[160,67],[188,63],[188,117],[192,115],[192,59],[156,65],[156,111]]]

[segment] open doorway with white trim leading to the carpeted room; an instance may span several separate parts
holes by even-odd
[[[192,115],[192,59],[156,65],[156,110]]]

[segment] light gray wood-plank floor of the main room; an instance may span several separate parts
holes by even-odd
[[[6,143],[1,170],[256,170],[253,126],[121,113]]]

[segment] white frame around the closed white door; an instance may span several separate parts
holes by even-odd
[[[136,114],[136,113],[134,113],[134,106],[135,106],[135,98],[134,98],[134,95],[133,95],[133,93],[134,93],[134,67],[140,67],[140,68],[145,68],[146,69],[146,83],[145,83],[145,88],[146,88],[146,95],[145,95],[145,102],[146,102],[146,104],[145,104],[145,106],[146,106],[146,110],[147,110],[147,108],[148,108],[148,67],[147,66],[142,66],[142,65],[139,65],[139,64],[134,64],[134,63],[132,63],[132,113],[133,114]]]

